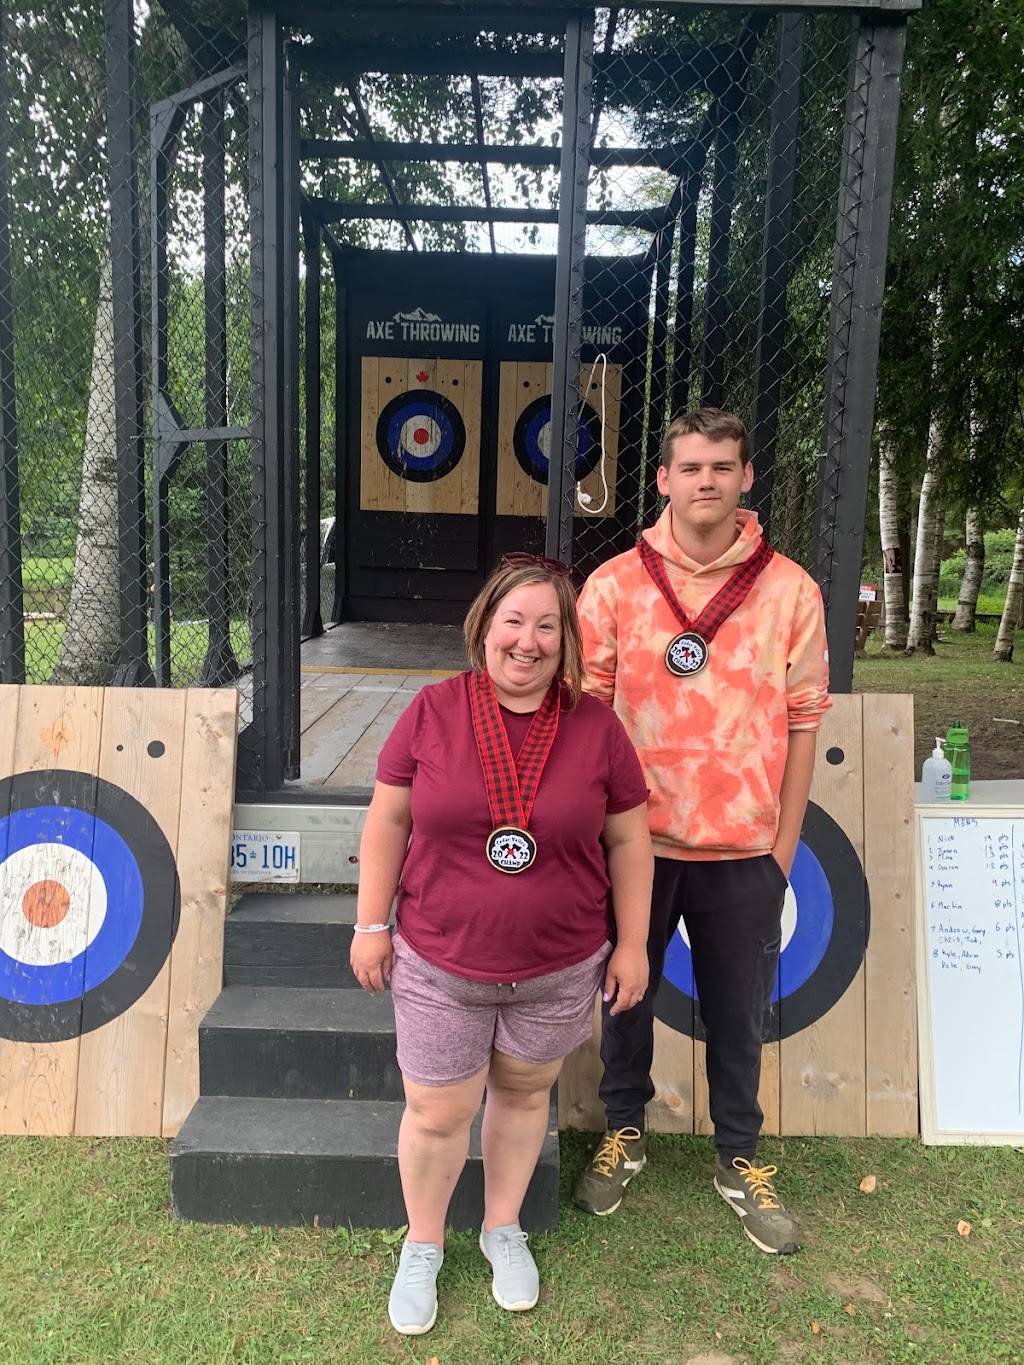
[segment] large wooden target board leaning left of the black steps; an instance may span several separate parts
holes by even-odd
[[[0,1132],[172,1136],[198,1099],[236,725],[233,689],[0,687]]]

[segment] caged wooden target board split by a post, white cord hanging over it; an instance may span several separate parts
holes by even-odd
[[[501,362],[498,516],[547,515],[552,373],[552,364],[539,360]],[[576,482],[590,497],[595,520],[614,513],[621,389],[621,364],[580,363]]]

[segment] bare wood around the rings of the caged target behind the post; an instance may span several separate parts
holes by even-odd
[[[580,482],[580,489],[594,500],[593,505],[603,508],[595,516],[614,513],[616,471],[618,467],[618,427],[623,388],[623,367],[609,364],[606,375],[602,366],[588,362],[580,364],[580,393],[601,416],[603,385],[605,407],[605,478],[608,479],[608,501],[605,485],[598,465],[593,474]],[[535,399],[552,392],[552,366],[541,360],[502,360],[498,386],[498,516],[547,515],[547,487],[531,479],[516,459],[512,437],[520,414]]]

